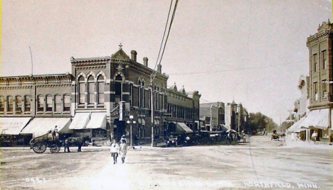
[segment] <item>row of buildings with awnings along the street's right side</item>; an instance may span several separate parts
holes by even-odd
[[[307,38],[310,73],[299,79],[301,96],[295,101],[288,118],[293,124],[287,129],[287,133],[297,134],[302,140],[311,140],[315,131],[317,140],[332,143],[332,35],[332,23],[328,20]]]

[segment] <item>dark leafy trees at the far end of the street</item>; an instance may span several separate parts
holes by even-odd
[[[250,113],[248,125],[250,130],[255,131],[256,133],[263,130],[270,132],[277,127],[277,124],[272,118],[268,118],[268,116],[265,116],[260,112]]]

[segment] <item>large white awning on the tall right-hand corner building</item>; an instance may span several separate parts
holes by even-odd
[[[322,130],[327,130],[328,123],[328,114],[329,109],[320,109],[310,111],[309,115],[305,118],[304,123],[302,123],[301,127],[303,128],[319,128]]]

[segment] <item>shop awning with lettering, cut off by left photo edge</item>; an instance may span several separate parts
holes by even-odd
[[[31,118],[0,118],[1,135],[18,135]]]

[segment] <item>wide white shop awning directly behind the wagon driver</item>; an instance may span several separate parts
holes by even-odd
[[[33,137],[45,135],[57,125],[59,133],[70,133],[70,118],[34,118],[21,134],[33,134]]]

